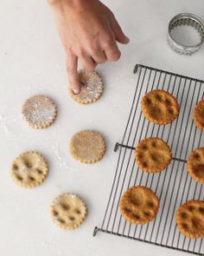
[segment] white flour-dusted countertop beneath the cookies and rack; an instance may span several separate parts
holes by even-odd
[[[120,47],[122,57],[118,62],[99,66],[105,94],[89,106],[69,97],[65,56],[46,1],[0,3],[1,255],[185,255],[105,233],[93,238],[92,231],[102,223],[111,191],[118,159],[113,147],[124,134],[131,107],[134,65],[143,63],[204,79],[204,47],[193,56],[179,56],[166,41],[170,18],[180,12],[204,18],[204,3],[103,2],[115,13],[131,43]],[[49,95],[57,103],[59,115],[48,129],[28,128],[22,120],[22,103],[35,94]],[[68,152],[71,136],[86,128],[98,130],[107,141],[107,153],[98,164],[80,164]],[[18,154],[32,149],[46,156],[50,172],[40,187],[25,189],[10,178],[10,163]],[[79,194],[89,208],[87,220],[74,231],[63,231],[50,220],[50,202],[64,192]]]

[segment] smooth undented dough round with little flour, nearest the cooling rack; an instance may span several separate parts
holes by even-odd
[[[73,158],[83,163],[99,161],[106,150],[104,138],[98,132],[90,130],[73,135],[69,148]]]

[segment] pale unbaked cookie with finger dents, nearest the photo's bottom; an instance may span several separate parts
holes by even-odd
[[[86,216],[86,204],[75,194],[61,194],[51,204],[52,220],[61,228],[77,228]]]

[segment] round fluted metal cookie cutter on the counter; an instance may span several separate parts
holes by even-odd
[[[171,36],[171,31],[178,26],[191,26],[198,31],[201,36],[201,42],[195,45],[183,45],[182,43],[175,42],[175,39]],[[192,13],[180,13],[174,16],[169,22],[169,36],[168,42],[172,49],[183,55],[191,55],[198,49],[204,42],[204,22],[199,16],[195,16]]]

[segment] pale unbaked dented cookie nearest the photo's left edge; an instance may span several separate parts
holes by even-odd
[[[11,176],[21,187],[36,187],[41,185],[48,176],[48,163],[37,152],[20,154],[11,165]]]

